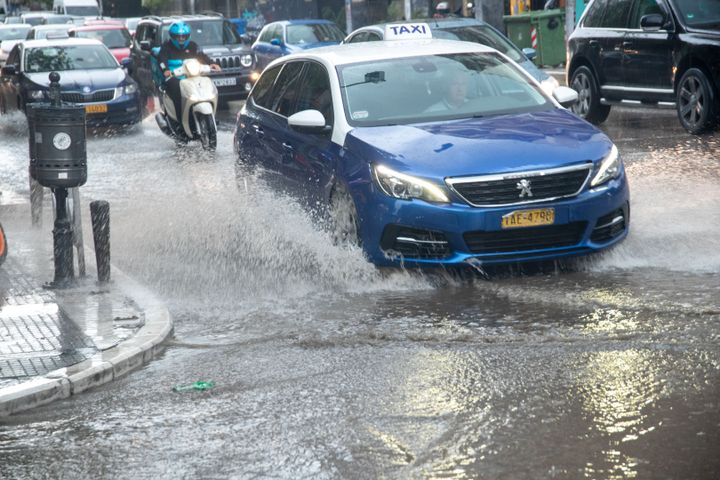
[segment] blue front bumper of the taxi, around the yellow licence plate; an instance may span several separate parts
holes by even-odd
[[[355,192],[362,242],[380,266],[491,265],[586,255],[622,241],[630,223],[624,172],[569,199],[492,208],[398,200],[373,183],[358,188],[364,190]],[[554,208],[552,225],[500,226],[510,212],[540,208]]]

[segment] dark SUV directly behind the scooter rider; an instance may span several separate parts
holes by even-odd
[[[162,81],[157,54],[162,44],[170,38],[170,25],[181,20],[192,29],[190,39],[222,67],[221,72],[210,73],[218,89],[220,105],[226,104],[228,100],[247,97],[257,78],[255,57],[233,24],[220,14],[181,15],[144,17],[138,22],[130,56],[133,60],[133,78],[140,85],[143,100],[157,93],[156,85]]]

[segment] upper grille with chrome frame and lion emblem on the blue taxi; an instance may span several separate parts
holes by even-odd
[[[577,195],[585,185],[591,168],[592,164],[587,163],[552,170],[451,178],[447,182],[470,205],[513,205]],[[522,183],[527,188],[523,188]]]

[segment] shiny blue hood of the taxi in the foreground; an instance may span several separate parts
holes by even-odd
[[[360,158],[426,178],[540,170],[604,158],[611,140],[563,109],[404,126],[360,127]]]

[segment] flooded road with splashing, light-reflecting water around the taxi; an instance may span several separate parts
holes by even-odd
[[[3,201],[27,197],[22,121],[0,117]],[[214,159],[152,119],[94,138],[84,203],[110,202],[113,263],[175,338],[4,420],[0,477],[719,478],[720,133],[677,123],[603,127],[631,185],[621,245],[490,280],[334,247],[292,199],[238,188],[227,125]],[[217,386],[171,391],[198,379]]]

